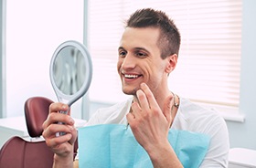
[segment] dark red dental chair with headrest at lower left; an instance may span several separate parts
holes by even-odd
[[[0,168],[49,168],[52,167],[54,153],[42,138],[42,124],[48,117],[48,107],[52,103],[44,97],[26,100],[24,110],[29,137],[12,137],[0,151]],[[74,157],[78,148],[75,143]]]

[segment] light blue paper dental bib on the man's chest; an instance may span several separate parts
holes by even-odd
[[[208,135],[170,130],[168,140],[186,168],[197,168],[208,152]],[[89,168],[153,168],[130,127],[102,124],[79,129],[79,164]]]

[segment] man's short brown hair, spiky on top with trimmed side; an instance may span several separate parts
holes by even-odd
[[[157,42],[161,51],[161,58],[176,54],[180,47],[180,33],[172,19],[162,11],[144,8],[135,11],[127,20],[126,27],[155,27],[160,29]]]

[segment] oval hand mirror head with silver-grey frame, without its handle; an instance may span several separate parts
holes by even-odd
[[[51,58],[50,81],[58,100],[71,106],[91,85],[91,56],[77,41],[59,45]]]

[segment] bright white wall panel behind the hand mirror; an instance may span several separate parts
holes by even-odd
[[[60,43],[83,42],[83,7],[83,0],[6,1],[6,117],[23,115],[29,97],[57,100],[50,59]]]

